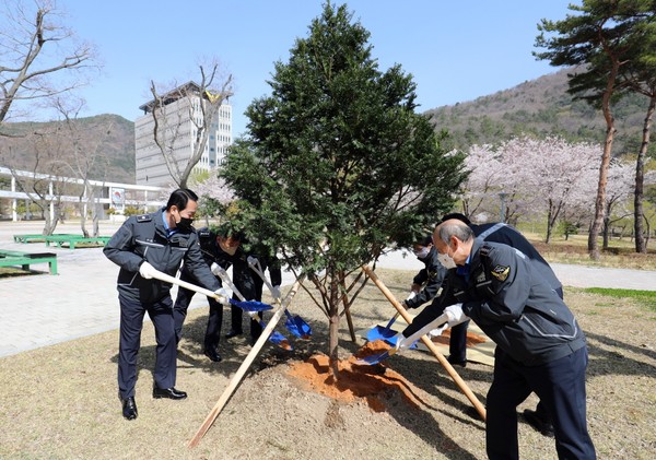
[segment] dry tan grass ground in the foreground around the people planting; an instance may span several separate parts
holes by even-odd
[[[379,270],[397,295],[411,273]],[[600,459],[652,459],[656,448],[656,314],[633,299],[567,290],[565,298],[589,342],[588,421]],[[301,389],[286,376],[288,363],[327,347],[326,320],[301,293],[293,311],[312,323],[311,342],[294,352],[267,345],[199,447],[187,444],[200,427],[249,346],[222,342],[224,361],[210,363],[200,343],[207,310],[190,311],[178,361],[177,387],[185,401],[150,396],[154,356],[147,323],[140,354],[139,417],[121,417],[116,394],[118,333],[110,331],[0,358],[2,429],[0,458],[11,459],[481,459],[483,423],[436,359],[408,352],[389,359],[422,401],[406,403],[398,391],[385,397],[386,410],[366,401],[343,404]],[[375,286],[353,307],[355,329],[388,319],[393,307]],[[341,355],[358,349],[341,330]],[[284,332],[284,329],[281,330]],[[492,368],[457,368],[484,403]],[[530,397],[519,410],[535,406]],[[525,459],[554,459],[552,439],[519,424]]]

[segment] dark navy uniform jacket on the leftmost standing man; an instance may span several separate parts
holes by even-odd
[[[175,276],[184,261],[201,285],[211,291],[220,288],[202,258],[196,231],[177,229],[167,237],[163,211],[128,217],[103,249],[105,256],[120,267],[119,294],[143,303],[157,302],[169,295],[169,283],[141,278],[139,266],[144,260],[171,276]]]

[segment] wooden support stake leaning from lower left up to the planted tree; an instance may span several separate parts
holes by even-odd
[[[200,440],[202,439],[204,434],[208,432],[208,429],[210,429],[210,427],[212,426],[212,424],[219,416],[219,413],[221,412],[223,406],[227,403],[227,400],[231,398],[232,393],[235,391],[235,389],[242,381],[242,378],[244,378],[246,370],[248,370],[248,367],[250,367],[250,364],[256,358],[256,356],[260,352],[261,347],[265,345],[265,342],[269,339],[269,335],[271,335],[271,332],[273,332],[273,328],[276,328],[276,325],[278,323],[280,318],[282,318],[282,315],[284,314],[284,309],[290,305],[294,295],[296,295],[296,292],[301,287],[301,284],[303,283],[304,279],[305,279],[305,275],[302,275],[301,278],[298,278],[298,280],[296,280],[296,282],[292,286],[292,290],[288,293],[284,300],[280,304],[279,307],[277,307],[274,309],[273,316],[269,320],[269,323],[267,325],[267,327],[260,334],[257,342],[255,342],[255,345],[253,345],[253,349],[250,349],[250,352],[248,353],[248,355],[246,356],[246,358],[244,359],[244,362],[242,363],[242,365],[239,366],[239,368],[237,369],[237,371],[231,379],[230,384],[223,391],[223,394],[221,394],[221,397],[219,398],[219,401],[216,401],[216,404],[214,404],[214,408],[212,408],[212,410],[206,417],[206,420],[202,423],[202,425],[200,426],[200,428],[198,428],[198,432],[196,432],[196,435],[194,435],[194,438],[191,438],[191,440],[189,441],[188,447],[192,448],[192,447],[198,446],[198,443],[200,443]]]

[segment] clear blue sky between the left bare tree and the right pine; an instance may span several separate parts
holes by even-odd
[[[531,55],[541,19],[561,20],[573,0],[336,0],[370,33],[380,71],[399,63],[417,83],[419,111],[476,99],[558,69]],[[233,137],[243,115],[271,93],[277,61],[288,62],[324,0],[57,0],[61,22],[93,44],[103,73],[81,96],[81,116],[134,121],[150,82],[199,80],[218,59],[234,78]],[[576,2],[577,3],[577,2]]]

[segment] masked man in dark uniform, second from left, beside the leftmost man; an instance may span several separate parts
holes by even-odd
[[[232,232],[226,225],[223,225],[219,231],[212,232],[209,228],[199,228],[197,231],[198,239],[202,257],[211,267],[216,263],[224,270],[227,270],[235,261],[235,253],[241,245],[242,236],[237,232]],[[183,266],[180,271],[180,280],[195,283],[196,279],[186,266]],[[220,278],[216,278],[219,284],[223,284]],[[183,335],[183,325],[187,317],[187,309],[191,303],[191,298],[196,294],[195,291],[185,287],[178,288],[178,294],[173,306],[173,316],[175,319],[175,337],[179,343]],[[223,323],[223,304],[214,297],[208,297],[210,312],[208,316],[208,326],[206,328],[203,341],[203,354],[214,363],[221,362],[221,355],[218,347],[221,340],[221,325]]]

